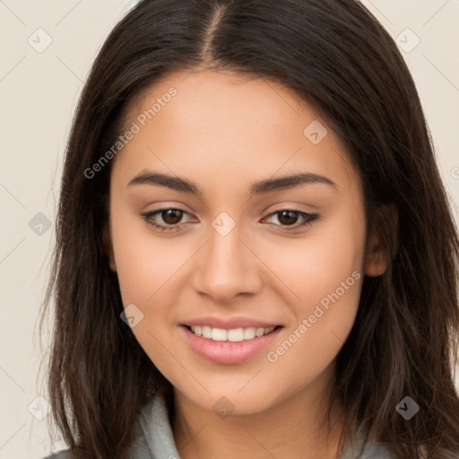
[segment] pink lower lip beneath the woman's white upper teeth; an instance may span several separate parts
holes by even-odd
[[[214,363],[232,365],[251,359],[255,354],[269,346],[279,335],[282,327],[252,340],[240,342],[213,341],[198,336],[188,330],[185,325],[180,325],[180,328],[183,330],[187,342],[198,355]]]

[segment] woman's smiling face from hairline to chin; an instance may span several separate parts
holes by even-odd
[[[359,176],[331,128],[281,85],[206,70],[156,84],[127,131],[110,265],[152,362],[208,410],[326,387],[377,275]]]

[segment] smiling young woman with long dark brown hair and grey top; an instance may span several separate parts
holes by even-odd
[[[53,457],[459,454],[458,238],[358,2],[138,4],[82,92],[56,233]]]

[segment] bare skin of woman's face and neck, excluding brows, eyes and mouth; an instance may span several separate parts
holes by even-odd
[[[143,320],[133,333],[174,386],[173,432],[182,459],[335,458],[341,407],[330,437],[320,429],[334,363],[355,320],[364,274],[385,272],[377,238],[366,234],[361,182],[330,126],[294,93],[273,82],[200,69],[171,74],[143,93],[126,126],[174,86],[178,94],[142,127],[114,160],[106,240],[125,307]],[[304,129],[318,120],[328,134],[311,143]],[[145,170],[187,178],[202,196],[129,182]],[[249,197],[258,180],[309,172],[335,186],[303,184]],[[160,232],[141,212],[181,209],[179,228]],[[285,209],[317,213],[295,230]],[[226,236],[212,221],[226,212]],[[273,214],[273,215],[272,215]],[[271,216],[270,216],[271,215]],[[152,220],[172,221],[164,213]],[[169,223],[170,226],[170,223]],[[307,333],[271,362],[321,299],[351,273],[361,274]],[[234,365],[195,354],[179,324],[199,316],[249,316],[283,325],[273,346]],[[234,411],[212,405],[225,396]]]

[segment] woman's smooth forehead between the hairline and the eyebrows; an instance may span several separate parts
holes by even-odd
[[[330,126],[293,91],[264,78],[169,74],[131,105],[126,128],[133,123],[138,133],[115,167],[125,182],[140,169],[204,180],[209,189],[299,171],[338,183],[357,179]]]

